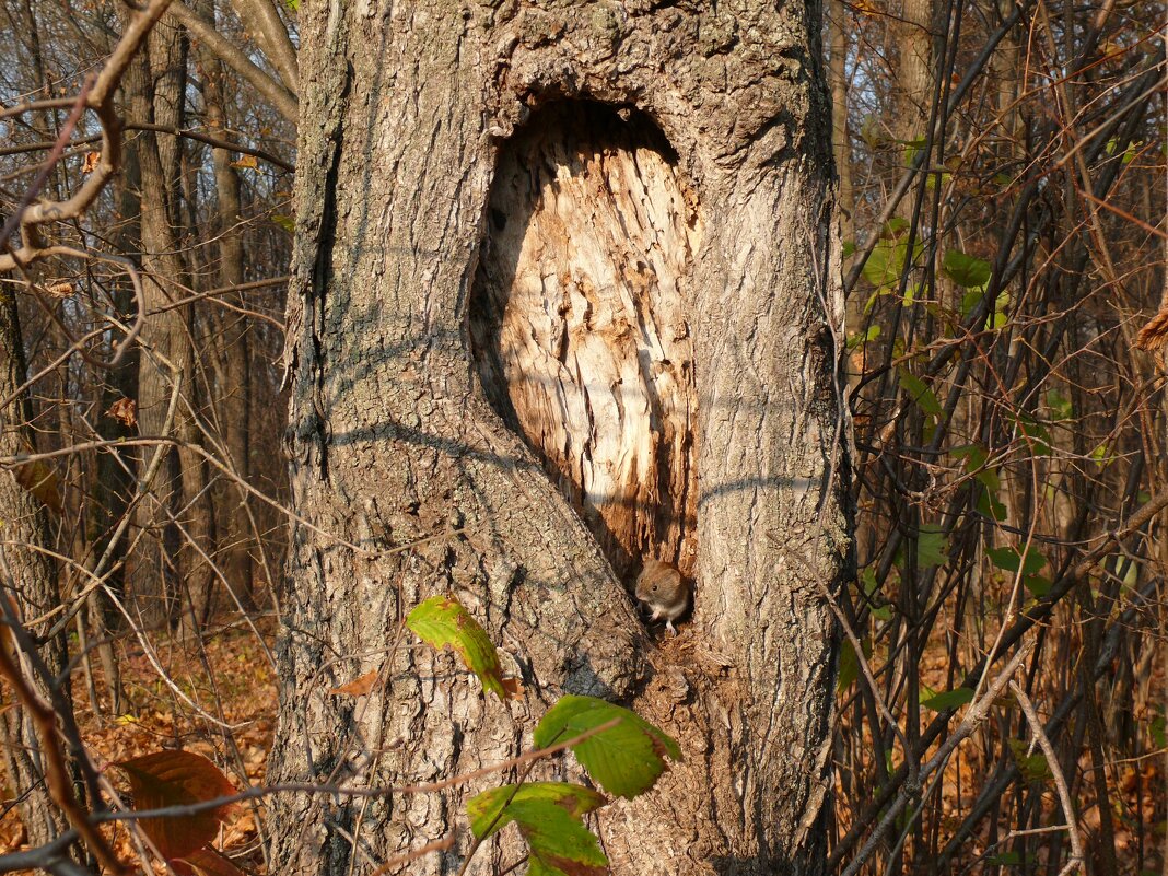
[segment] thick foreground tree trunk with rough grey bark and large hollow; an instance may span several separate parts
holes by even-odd
[[[292,535],[269,778],[454,776],[588,693],[686,757],[600,815],[616,872],[818,872],[848,544],[820,11],[654,6],[301,7],[288,445],[329,535]],[[695,580],[676,640],[628,595],[646,554]],[[521,701],[396,639],[443,592]],[[404,868],[453,872],[466,797],[505,780],[281,795],[272,867],[369,871],[454,833]]]

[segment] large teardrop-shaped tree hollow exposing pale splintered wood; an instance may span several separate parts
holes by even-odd
[[[500,151],[471,304],[479,374],[621,577],[651,556],[696,566],[701,234],[640,113],[558,103]]]

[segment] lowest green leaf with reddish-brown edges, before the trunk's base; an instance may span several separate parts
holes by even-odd
[[[515,822],[530,850],[529,875],[602,876],[609,858],[579,818],[604,802],[586,787],[544,781],[485,791],[467,801],[466,811],[479,839]]]

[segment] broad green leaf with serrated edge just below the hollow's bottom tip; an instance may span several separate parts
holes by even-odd
[[[536,748],[579,736],[617,719],[607,730],[572,745],[576,759],[589,776],[616,797],[632,799],[653,787],[668,764],[681,760],[681,749],[669,736],[628,709],[595,696],[566,694],[535,728]]]

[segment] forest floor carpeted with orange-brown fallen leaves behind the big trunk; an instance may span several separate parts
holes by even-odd
[[[153,653],[147,654],[140,644],[132,641],[121,654],[120,663],[127,702],[121,714],[116,716],[109,711],[109,691],[99,661],[95,659],[90,670],[100,714],[93,709],[85,668],[76,670],[74,702],[82,735],[99,767],[116,787],[127,788],[127,784],[119,770],[111,769],[114,764],[172,749],[206,755],[220,765],[236,787],[264,780],[277,710],[276,674],[267,651],[273,640],[273,626],[271,619],[260,623],[263,641],[245,626],[224,627],[207,637],[202,649],[189,642],[161,639],[154,642]],[[938,672],[943,672],[943,655],[938,656]],[[1154,689],[1162,689],[1159,680],[1155,683]],[[993,771],[994,764],[983,762],[980,748],[972,741],[967,742],[946,770],[941,795],[944,823],[955,826],[960,822],[962,809],[971,802],[971,791],[975,792],[981,778],[987,771]],[[1153,849],[1163,848],[1164,826],[1154,821],[1156,813],[1163,811],[1163,760],[1162,756],[1148,757],[1139,763],[1112,764],[1108,770],[1108,778],[1118,783],[1120,797],[1112,804],[1117,815],[1115,844],[1120,874],[1147,874],[1149,860],[1156,857]],[[1082,765],[1087,766],[1089,762]],[[5,787],[4,791],[5,799],[12,800],[11,788]],[[842,816],[841,822],[846,822],[849,807],[843,799],[839,802],[837,818]],[[1087,836],[1094,833],[1099,821],[1098,807],[1092,804],[1078,801],[1083,807],[1080,826]],[[1061,813],[1056,807],[1051,793],[1050,812],[1045,814],[1044,823],[1058,823]],[[1143,819],[1132,819],[1133,812],[1141,813]],[[229,850],[232,857],[244,854],[258,867],[259,814],[257,808],[237,807],[222,828],[216,847]],[[1138,835],[1140,821],[1145,827],[1142,837]],[[128,833],[113,829],[112,834],[114,848],[123,860],[133,860],[134,849]],[[23,841],[15,812],[4,812],[0,816],[0,853],[16,850]],[[1136,850],[1141,841],[1145,844],[1142,855]],[[980,846],[976,841],[972,843],[975,854],[982,851]],[[248,855],[248,851],[251,854]],[[1136,863],[1141,857],[1143,868]],[[983,863],[989,867],[973,861],[965,863],[973,864],[968,872],[978,874],[985,869],[993,870],[993,864],[1001,865],[1007,861],[987,855]],[[1000,872],[1014,869],[1007,865]]]

